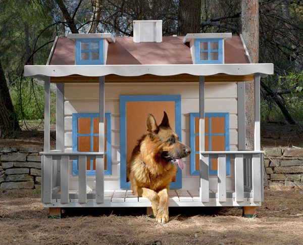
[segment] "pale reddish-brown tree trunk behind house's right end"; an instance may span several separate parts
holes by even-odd
[[[247,46],[252,63],[259,62],[259,1],[241,1],[242,35]],[[254,81],[245,83],[245,126],[246,148],[254,148],[254,121],[255,121],[255,88]]]

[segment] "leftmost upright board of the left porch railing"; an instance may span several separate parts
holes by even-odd
[[[50,155],[43,158],[43,203],[52,203],[53,160]]]

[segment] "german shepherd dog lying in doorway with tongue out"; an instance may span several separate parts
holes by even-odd
[[[169,184],[178,166],[184,168],[182,158],[191,150],[171,129],[166,112],[159,126],[155,117],[148,114],[146,126],[146,134],[138,140],[127,163],[127,176],[133,194],[148,198],[156,221],[166,223],[169,218]]]

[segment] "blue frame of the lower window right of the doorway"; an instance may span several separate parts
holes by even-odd
[[[195,169],[195,158],[199,157],[199,151],[196,149],[196,136],[199,136],[198,130],[195,129],[195,118],[199,118],[199,113],[189,113],[189,123],[190,123],[190,148],[192,149],[192,154],[190,155],[190,174],[199,175],[200,171]],[[225,151],[229,151],[229,113],[205,113],[205,118],[208,118],[208,150],[212,151],[212,138],[213,136],[224,136]],[[212,133],[212,119],[213,118],[224,118],[224,133]],[[206,125],[207,127],[207,125]],[[207,143],[207,142],[206,142]],[[207,148],[207,147],[206,147]],[[210,175],[218,175],[217,170],[212,170],[212,161],[209,162]],[[226,174],[230,174],[230,159],[226,161]]]

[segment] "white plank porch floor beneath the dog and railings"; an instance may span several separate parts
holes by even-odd
[[[87,202],[78,203],[78,191],[70,190],[70,203],[60,203],[60,190],[53,189],[52,204],[44,204],[45,207],[150,207],[151,203],[147,198],[133,195],[132,190],[105,190],[104,203],[95,203],[95,191],[88,190],[86,193]],[[235,192],[227,190],[226,202],[218,202],[218,192],[210,190],[210,202],[201,203],[199,190],[170,190],[170,207],[190,207],[190,206],[259,206],[261,203],[252,202],[252,192],[244,192],[244,202],[235,202]]]

